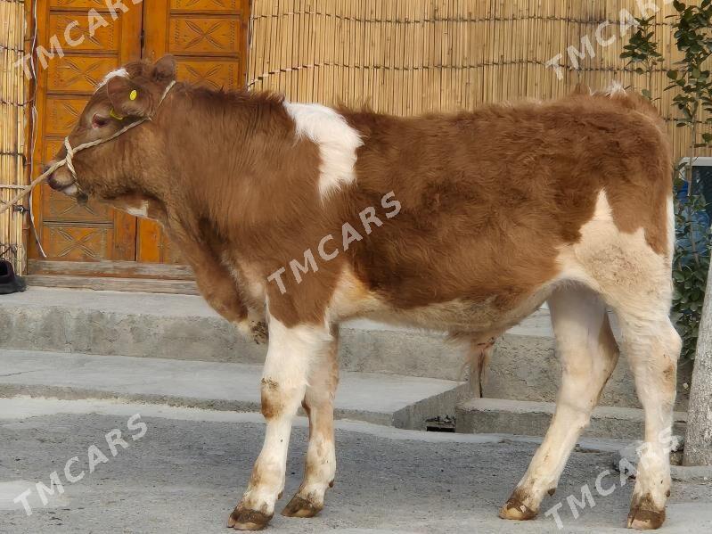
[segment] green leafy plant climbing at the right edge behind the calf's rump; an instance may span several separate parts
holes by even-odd
[[[709,147],[712,134],[700,136],[700,126],[712,123],[702,119],[712,112],[712,80],[705,69],[712,55],[712,0],[703,0],[700,5],[686,5],[675,0],[675,44],[683,53],[674,69],[667,71],[671,83],[667,89],[677,89],[673,103],[681,117],[675,119],[677,127],[690,129],[690,145],[687,158],[673,169],[675,183],[675,255],[673,259],[673,283],[675,295],[672,316],[683,338],[682,357],[693,359],[697,345],[698,328],[709,268],[709,230],[705,211],[706,201],[695,191],[692,173],[698,150]],[[663,62],[658,43],[651,30],[653,18],[636,19],[637,27],[628,45],[621,53],[626,65],[634,72],[647,75],[647,87],[642,94],[654,100],[651,94],[652,72]],[[681,191],[686,189],[685,194]]]

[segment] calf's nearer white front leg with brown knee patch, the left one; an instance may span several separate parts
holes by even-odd
[[[269,345],[261,382],[265,443],[247,491],[227,522],[237,530],[260,530],[272,519],[284,489],[291,424],[305,398],[310,368],[333,342],[325,325],[288,327],[268,316],[267,326]]]

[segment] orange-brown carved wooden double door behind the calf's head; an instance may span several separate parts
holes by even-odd
[[[78,25],[70,29],[70,37],[86,38],[77,46],[63,46],[64,57],[54,57],[46,69],[38,69],[36,161],[52,158],[95,87],[122,63],[174,53],[179,80],[225,89],[243,85],[249,0],[124,4],[128,11],[112,21],[104,0],[37,0],[40,45],[49,49],[53,36],[64,44],[65,30],[73,21]],[[92,9],[108,24],[89,37],[87,12]],[[43,258],[30,240],[29,274],[36,283],[116,289],[121,284],[106,277],[179,281],[190,277],[175,247],[151,221],[101,203],[78,206],[46,185],[38,188],[33,209],[46,254]],[[98,281],[78,282],[74,280],[78,276]],[[176,287],[185,291],[186,285]]]

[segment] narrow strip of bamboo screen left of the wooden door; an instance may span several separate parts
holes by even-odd
[[[24,53],[25,3],[0,0],[0,201],[9,201],[25,185],[26,79],[17,64]],[[25,263],[20,213],[0,214],[0,256],[18,272]]]

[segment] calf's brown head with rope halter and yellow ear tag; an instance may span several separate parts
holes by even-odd
[[[155,64],[131,62],[111,72],[70,132],[70,146],[107,139],[137,120],[153,117],[162,95],[175,79],[173,56],[165,56]],[[168,178],[168,161],[162,148],[164,133],[160,125],[144,122],[115,139],[77,152],[72,158],[76,175],[65,165],[57,168],[47,183],[78,200],[92,197],[118,208],[127,204],[128,208],[137,209],[138,203],[145,209],[146,201],[160,204]],[[47,167],[66,154],[62,146]]]

